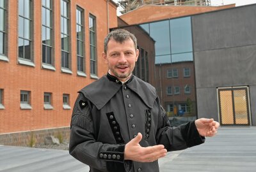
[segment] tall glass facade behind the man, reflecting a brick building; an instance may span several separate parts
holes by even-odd
[[[132,25],[123,29],[132,32],[138,39],[140,60],[136,62],[134,75],[156,87],[171,124],[195,120],[191,17]],[[152,77],[148,77],[150,75]]]

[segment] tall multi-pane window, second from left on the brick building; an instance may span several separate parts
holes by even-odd
[[[19,0],[19,58],[31,58],[31,1]]]

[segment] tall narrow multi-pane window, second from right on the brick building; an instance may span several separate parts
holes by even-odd
[[[83,9],[77,6],[76,9],[76,49],[77,49],[77,71],[84,73],[84,22]]]

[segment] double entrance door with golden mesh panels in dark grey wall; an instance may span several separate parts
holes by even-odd
[[[250,125],[248,87],[218,88],[221,125]]]

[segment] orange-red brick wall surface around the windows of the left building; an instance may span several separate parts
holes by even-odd
[[[99,2],[100,1],[100,2]],[[71,110],[63,110],[63,94],[70,94],[70,106],[74,105],[77,90],[95,81],[90,78],[89,13],[97,18],[97,62],[98,76],[105,75],[108,66],[102,61],[103,39],[109,27],[117,26],[116,6],[106,0],[70,1],[70,57],[72,75],[61,73],[60,1],[54,0],[54,59],[56,71],[42,68],[41,1],[32,1],[33,58],[35,67],[18,64],[18,6],[16,0],[9,0],[8,11],[8,54],[9,62],[0,60],[0,89],[4,89],[4,110],[0,110],[0,133],[31,131],[63,127],[70,124]],[[84,50],[87,77],[77,76],[76,63],[76,5],[84,9]],[[97,6],[97,8],[95,8]],[[107,15],[109,8],[109,24]],[[32,33],[32,32],[31,32]],[[20,90],[31,92],[31,110],[20,109]],[[44,110],[44,92],[52,93],[53,110]]]

